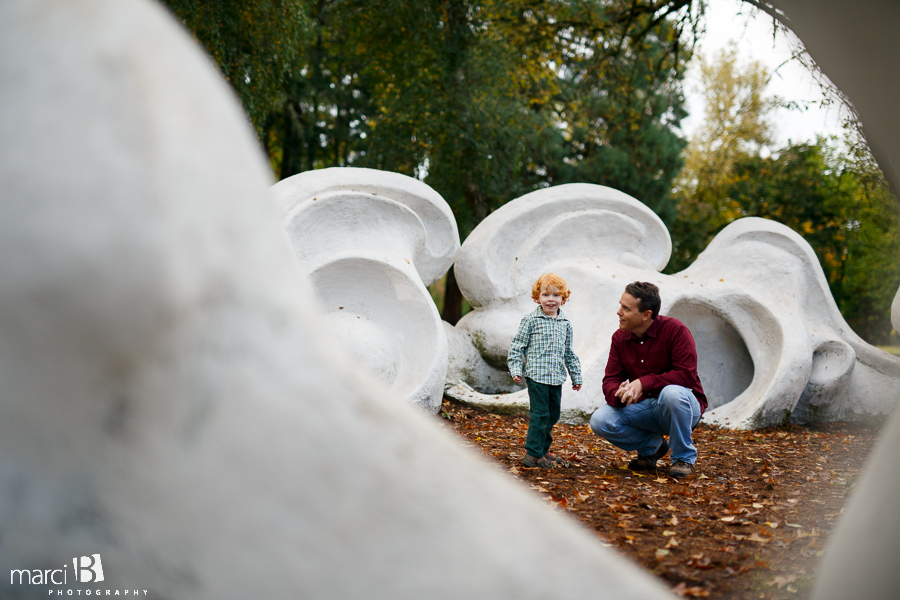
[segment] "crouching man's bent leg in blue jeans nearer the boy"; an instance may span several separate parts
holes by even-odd
[[[650,456],[663,443],[662,434],[669,433],[668,428],[659,427],[654,400],[648,398],[623,408],[603,404],[591,415],[591,430],[622,450]]]

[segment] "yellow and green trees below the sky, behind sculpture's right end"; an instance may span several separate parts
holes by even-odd
[[[706,123],[677,179],[666,270],[687,267],[735,219],[772,219],[812,246],[854,331],[888,343],[900,286],[900,203],[859,141],[820,139],[773,151],[767,117],[779,102],[764,98],[766,79],[758,65],[739,68],[733,52],[703,65]]]

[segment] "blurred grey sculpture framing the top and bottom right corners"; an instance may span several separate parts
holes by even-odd
[[[900,192],[900,3],[896,0],[772,0],[862,120],[875,157]],[[900,256],[895,257],[900,262]],[[900,298],[892,320],[900,331]],[[896,387],[891,397],[900,397]],[[900,596],[900,412],[891,417],[846,512],[829,538],[814,600]]]

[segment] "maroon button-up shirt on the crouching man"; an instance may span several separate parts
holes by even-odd
[[[706,411],[708,403],[697,374],[694,337],[678,319],[657,315],[643,337],[624,329],[616,330],[603,377],[603,395],[607,404],[625,406],[616,398],[616,390],[626,379],[641,380],[644,392],[638,402],[655,398],[664,387],[674,384],[694,392],[700,412]]]

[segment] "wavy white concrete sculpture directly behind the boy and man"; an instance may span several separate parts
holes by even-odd
[[[742,219],[690,268],[662,275],[670,248],[656,215],[621,192],[587,184],[533,192],[492,213],[463,244],[455,273],[474,310],[457,327],[500,372],[519,319],[533,310],[531,284],[543,272],[563,276],[573,290],[564,310],[584,372],[580,392],[563,387],[563,414],[584,418],[604,402],[619,297],[627,283],[650,281],[661,289],[662,313],[694,334],[707,421],[756,428],[792,416],[822,421],[891,412],[900,359],[844,322],[798,234],[773,221]],[[451,374],[456,362],[452,357]],[[495,408],[527,407],[524,391],[502,395],[496,387],[461,376],[448,382],[447,393]]]

